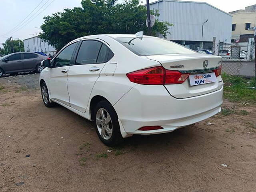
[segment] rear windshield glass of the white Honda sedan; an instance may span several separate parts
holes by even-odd
[[[138,56],[195,53],[182,45],[161,38],[122,37],[114,39]]]

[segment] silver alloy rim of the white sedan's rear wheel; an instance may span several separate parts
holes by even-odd
[[[96,113],[96,125],[100,136],[109,140],[113,133],[113,126],[111,117],[104,108],[100,108]]]

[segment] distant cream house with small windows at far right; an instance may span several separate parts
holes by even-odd
[[[248,38],[254,37],[254,31],[248,30],[256,24],[256,4],[242,10],[229,12],[233,16],[232,42],[247,42]]]

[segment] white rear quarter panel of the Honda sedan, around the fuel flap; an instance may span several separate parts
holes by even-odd
[[[116,67],[113,75],[111,74],[110,76],[108,72],[105,73],[108,65],[106,64],[104,66],[100,73],[100,77],[94,84],[89,103],[94,96],[100,95],[114,105],[120,98],[122,98],[122,96],[124,96],[124,94],[136,85],[135,83],[130,82],[126,76],[127,73],[143,68],[160,66],[160,63],[137,56],[122,46],[122,44],[108,36],[102,36],[101,39],[108,43],[110,49],[114,53],[114,57],[110,59],[108,63],[114,63]],[[89,103],[87,109],[90,107]]]

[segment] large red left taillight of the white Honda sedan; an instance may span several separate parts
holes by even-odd
[[[166,70],[162,66],[151,67],[126,74],[131,82],[144,85],[180,84],[189,76],[174,70]]]

